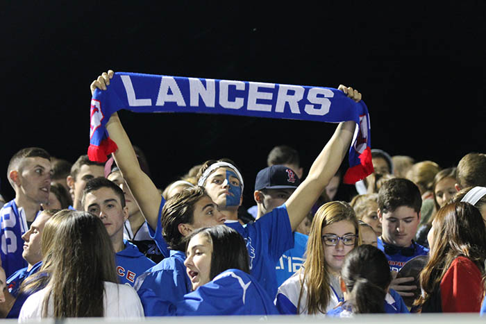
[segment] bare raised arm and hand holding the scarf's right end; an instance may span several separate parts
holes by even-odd
[[[351,87],[340,85],[338,89],[356,102],[361,100],[361,94]],[[326,189],[326,185],[339,169],[353,139],[355,126],[355,121],[344,121],[337,126],[333,137],[329,139],[329,142],[312,163],[307,178],[285,202],[292,231],[296,230],[297,226],[303,221],[305,215],[308,214],[312,205],[315,204],[319,195]]]

